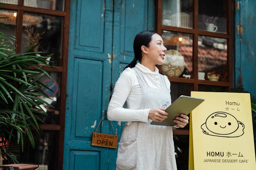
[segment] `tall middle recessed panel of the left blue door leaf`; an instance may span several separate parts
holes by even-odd
[[[86,72],[84,72],[85,68]],[[74,96],[76,114],[72,119],[75,120],[72,122],[75,128],[75,137],[91,137],[90,132],[95,131],[101,117],[100,114],[95,113],[101,113],[102,109],[103,62],[77,58],[74,76],[74,86],[77,86],[73,91],[73,95],[76,94]]]

